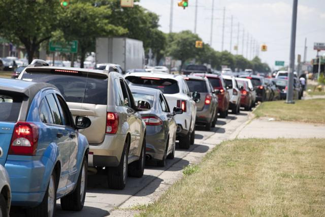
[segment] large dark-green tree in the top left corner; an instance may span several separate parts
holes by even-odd
[[[49,40],[58,24],[57,0],[0,1],[0,34],[23,44],[31,63],[40,44]]]

